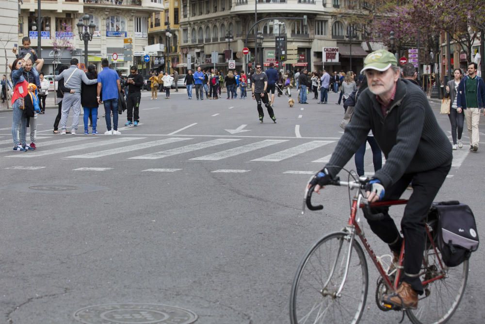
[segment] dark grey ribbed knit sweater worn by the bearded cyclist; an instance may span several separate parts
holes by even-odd
[[[375,95],[369,89],[362,92],[354,116],[325,166],[332,176],[350,160],[369,130],[386,156],[386,163],[374,175],[384,188],[394,184],[404,173],[432,170],[452,163],[450,140],[439,127],[426,95],[407,80],[398,81],[394,101],[385,118]]]

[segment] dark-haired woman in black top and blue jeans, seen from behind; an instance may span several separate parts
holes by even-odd
[[[88,66],[88,71],[86,72],[86,76],[89,80],[97,79],[97,71],[96,66],[90,65]],[[96,126],[97,126],[97,84],[94,85],[85,85],[84,83],[81,85],[81,106],[84,109],[84,135],[89,134],[88,129],[88,118],[92,116],[92,124],[93,124],[93,132],[92,134],[97,134]]]

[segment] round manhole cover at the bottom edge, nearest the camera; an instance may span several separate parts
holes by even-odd
[[[191,324],[197,315],[180,307],[123,303],[81,308],[74,319],[85,324]]]

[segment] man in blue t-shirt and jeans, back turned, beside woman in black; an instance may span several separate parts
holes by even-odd
[[[101,60],[103,70],[97,75],[97,102],[101,104],[103,93],[104,111],[106,113],[106,128],[104,135],[121,135],[118,132],[118,96],[121,91],[120,77],[115,70],[109,68],[108,59]],[[113,113],[113,131],[111,130],[111,113]]]

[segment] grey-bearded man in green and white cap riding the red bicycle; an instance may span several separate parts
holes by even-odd
[[[386,163],[366,186],[368,201],[399,199],[409,183],[413,187],[401,221],[404,275],[395,293],[384,295],[383,302],[416,308],[418,294],[423,293],[419,273],[425,244],[424,219],[450,171],[452,147],[426,95],[417,85],[399,78],[394,54],[385,50],[370,53],[364,60],[363,72],[369,88],[360,95],[330,161],[310,181],[310,186],[317,185],[314,190],[318,192],[330,184],[372,130]],[[372,208],[372,213],[383,213],[385,219],[368,223],[372,232],[388,243],[397,263],[403,238],[388,209]]]

